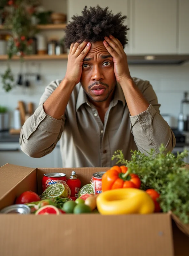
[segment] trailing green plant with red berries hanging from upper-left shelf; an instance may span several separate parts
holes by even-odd
[[[6,2],[9,11],[5,17],[4,27],[11,28],[11,37],[7,47],[8,59],[11,60],[14,55],[17,55],[23,61],[25,55],[31,54],[33,42],[31,38],[38,32],[36,25],[32,24],[31,18],[35,7],[40,2],[38,0],[9,0]],[[14,79],[12,79],[11,68],[8,64],[7,70],[2,75],[3,88],[6,92],[9,92],[14,86]]]

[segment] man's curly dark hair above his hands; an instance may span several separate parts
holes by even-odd
[[[82,15],[73,15],[72,20],[65,30],[65,46],[70,48],[72,43],[89,41],[91,43],[103,41],[104,36],[116,37],[123,47],[127,44],[127,31],[123,25],[127,16],[121,12],[113,14],[108,7],[84,7]]]

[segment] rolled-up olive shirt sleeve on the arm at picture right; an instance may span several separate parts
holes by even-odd
[[[138,149],[147,154],[151,148],[159,153],[161,144],[167,151],[175,147],[175,136],[168,123],[160,115],[156,94],[151,84],[145,84],[140,88],[144,97],[150,103],[146,111],[137,116],[130,116],[131,132]]]

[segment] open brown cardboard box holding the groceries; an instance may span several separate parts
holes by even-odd
[[[0,209],[22,192],[41,194],[44,173],[76,171],[82,185],[94,172],[108,168],[0,167]],[[175,222],[174,222],[174,221]],[[177,223],[180,231],[175,225]],[[0,214],[2,256],[171,256],[189,255],[189,225],[172,213],[110,215]]]

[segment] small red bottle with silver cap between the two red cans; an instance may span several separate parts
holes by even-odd
[[[66,183],[71,190],[70,197],[75,201],[75,199],[78,198],[78,193],[81,188],[81,181],[78,179],[76,172],[72,171],[72,174]]]

